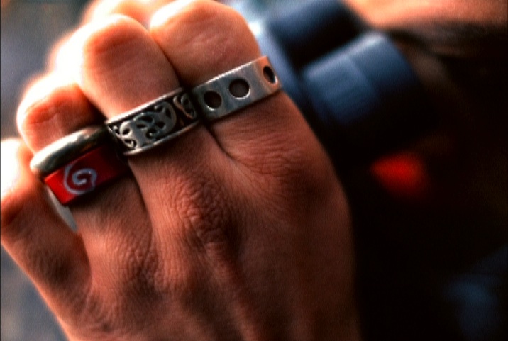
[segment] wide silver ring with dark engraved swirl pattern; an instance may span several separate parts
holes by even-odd
[[[199,123],[196,108],[183,89],[160,96],[106,121],[123,155],[145,152]]]

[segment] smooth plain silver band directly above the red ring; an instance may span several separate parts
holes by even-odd
[[[39,150],[33,155],[30,169],[38,177],[45,177],[108,140],[111,135],[106,126],[91,125]]]

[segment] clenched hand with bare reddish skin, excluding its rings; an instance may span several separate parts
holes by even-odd
[[[157,5],[147,30],[133,2],[96,6],[26,93],[2,245],[70,340],[358,339],[346,198],[283,93],[129,158],[70,206],[76,233],[55,213],[33,152],[260,55],[226,6]]]

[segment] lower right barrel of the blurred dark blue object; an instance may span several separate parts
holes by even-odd
[[[433,121],[419,80],[381,33],[364,33],[311,62],[300,82],[316,130],[339,132],[326,144],[358,160],[400,147]]]

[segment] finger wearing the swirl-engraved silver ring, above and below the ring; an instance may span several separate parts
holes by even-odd
[[[79,86],[106,118],[180,86],[159,45],[126,16],[90,23],[69,46],[81,56],[80,65],[74,67]],[[198,125],[130,157],[129,164],[153,224],[153,238],[164,250],[177,250],[175,245],[187,245],[189,235],[206,229],[209,224],[203,217],[226,219],[218,208],[226,201],[228,181],[223,174],[229,163],[206,128]],[[85,210],[84,214],[92,214]]]

